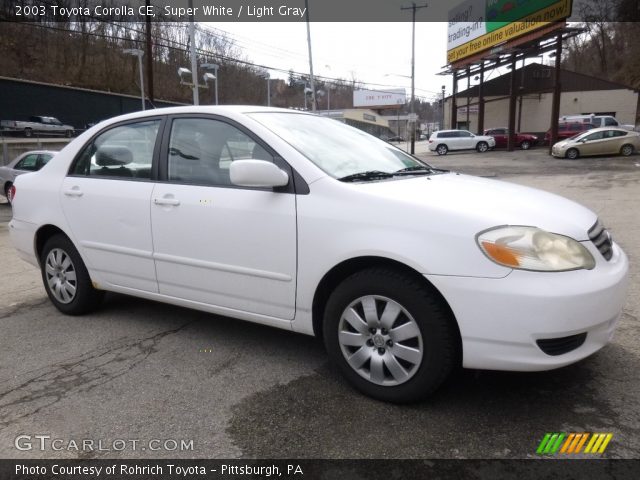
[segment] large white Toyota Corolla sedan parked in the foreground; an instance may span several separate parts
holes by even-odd
[[[13,244],[60,311],[109,290],[315,334],[388,401],[425,397],[457,364],[583,359],[625,295],[627,258],[588,209],[291,110],[114,118],[11,195]]]

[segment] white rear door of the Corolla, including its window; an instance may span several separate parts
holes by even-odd
[[[103,130],[75,159],[60,202],[76,246],[103,281],[157,292],[149,203],[163,118]]]

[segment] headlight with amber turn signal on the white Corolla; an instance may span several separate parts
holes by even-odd
[[[490,260],[505,267],[563,272],[596,265],[580,242],[536,227],[496,227],[480,232],[476,241]]]

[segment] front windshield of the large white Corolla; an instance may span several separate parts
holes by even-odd
[[[249,116],[334,178],[372,171],[383,174],[375,178],[384,178],[384,173],[431,168],[387,142],[331,118],[284,112]]]

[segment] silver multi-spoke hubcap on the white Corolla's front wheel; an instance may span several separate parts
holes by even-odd
[[[338,342],[347,363],[377,385],[394,386],[415,375],[422,363],[418,324],[399,303],[367,295],[342,312]]]

